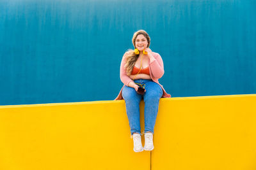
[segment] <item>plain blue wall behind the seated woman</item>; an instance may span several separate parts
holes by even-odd
[[[256,93],[256,1],[0,1],[0,105],[113,100],[145,29],[172,97]]]

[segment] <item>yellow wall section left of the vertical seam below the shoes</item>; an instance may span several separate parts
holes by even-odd
[[[0,106],[0,169],[150,169],[130,136],[123,101]]]

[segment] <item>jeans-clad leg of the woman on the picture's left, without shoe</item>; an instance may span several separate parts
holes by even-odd
[[[140,129],[140,101],[142,96],[137,94],[136,90],[132,87],[125,85],[122,90],[122,96],[125,100],[126,113],[131,128],[131,134],[134,132],[141,134]]]

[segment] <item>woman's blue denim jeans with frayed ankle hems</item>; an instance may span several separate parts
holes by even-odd
[[[122,90],[122,96],[125,100],[126,113],[129,119],[131,134],[134,132],[141,134],[140,129],[140,101],[143,98],[145,103],[144,118],[145,132],[154,133],[156,116],[158,112],[159,99],[163,95],[163,90],[160,85],[152,80],[138,79],[134,83],[145,84],[146,92],[141,95],[137,94],[132,87],[125,87]]]

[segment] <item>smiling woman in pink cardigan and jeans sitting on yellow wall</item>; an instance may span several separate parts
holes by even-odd
[[[132,37],[135,50],[125,52],[121,66],[120,79],[124,86],[115,100],[125,100],[126,112],[134,142],[134,152],[153,150],[153,134],[158,112],[159,99],[171,97],[158,82],[164,74],[163,60],[158,53],[150,50],[150,37],[146,31],[139,30]],[[145,92],[143,92],[145,89]],[[140,101],[145,102],[145,146],[141,145]]]

